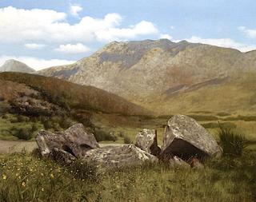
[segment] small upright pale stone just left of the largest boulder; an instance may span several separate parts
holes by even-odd
[[[158,156],[161,152],[161,149],[158,147],[158,136],[156,130],[143,129],[137,134],[135,145],[154,156]]]

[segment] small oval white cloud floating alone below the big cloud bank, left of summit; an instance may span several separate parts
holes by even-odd
[[[55,49],[55,50],[61,53],[71,53],[71,54],[90,52],[90,48],[88,48],[87,46],[84,46],[82,43],[60,45],[58,49]]]

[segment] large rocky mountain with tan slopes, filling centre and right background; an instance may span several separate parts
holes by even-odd
[[[160,114],[256,109],[248,102],[256,97],[256,51],[167,39],[111,42],[72,65],[39,73],[105,89]]]

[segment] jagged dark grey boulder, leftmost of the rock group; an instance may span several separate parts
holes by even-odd
[[[82,124],[73,125],[63,132],[51,133],[41,130],[35,140],[42,156],[52,156],[58,153],[66,160],[70,160],[67,156],[78,158],[84,156],[90,149],[99,148],[94,134],[87,132]]]

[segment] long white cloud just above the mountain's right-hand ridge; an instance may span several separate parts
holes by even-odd
[[[240,42],[235,42],[231,38],[199,38],[199,37],[193,36],[191,38],[186,38],[185,40],[191,43],[203,43],[203,44],[209,44],[212,46],[232,48],[232,49],[240,50],[242,52],[256,50],[256,46],[250,46]],[[179,41],[181,40],[177,40],[176,42],[179,42]]]

